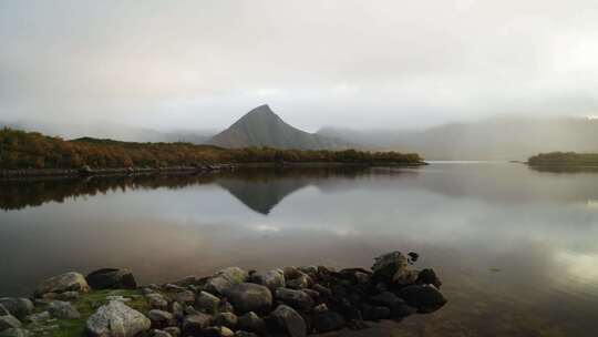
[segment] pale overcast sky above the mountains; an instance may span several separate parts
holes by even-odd
[[[598,114],[598,1],[0,1],[0,120],[316,131]]]

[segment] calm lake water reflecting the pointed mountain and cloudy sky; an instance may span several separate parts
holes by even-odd
[[[598,173],[511,163],[0,182],[0,296],[127,267],[365,266],[421,254],[448,304],[388,336],[597,336]]]

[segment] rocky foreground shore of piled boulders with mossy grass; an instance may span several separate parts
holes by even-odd
[[[414,269],[416,259],[392,252],[371,269],[229,267],[143,286],[127,269],[66,273],[43,280],[31,298],[0,298],[0,336],[302,337],[367,329],[446,304],[434,270]]]

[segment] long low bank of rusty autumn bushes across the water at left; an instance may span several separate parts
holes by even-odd
[[[0,168],[92,168],[195,166],[218,163],[421,164],[415,153],[223,149],[190,143],[134,143],[83,137],[65,141],[37,132],[0,130]]]

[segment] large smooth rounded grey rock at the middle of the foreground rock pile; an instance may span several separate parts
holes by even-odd
[[[262,285],[241,283],[225,293],[235,309],[240,313],[264,313],[272,306],[272,294]]]

